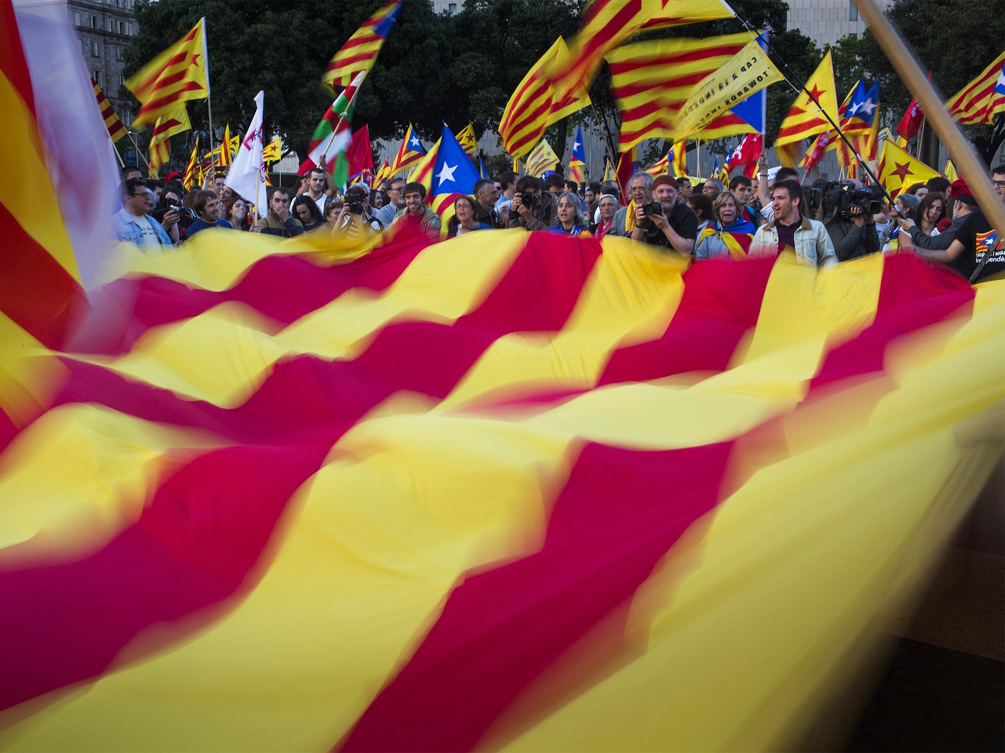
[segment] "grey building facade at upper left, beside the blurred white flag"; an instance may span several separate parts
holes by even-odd
[[[84,64],[127,127],[133,114],[119,88],[126,47],[138,31],[133,4],[134,0],[66,0],[66,15],[80,40]]]

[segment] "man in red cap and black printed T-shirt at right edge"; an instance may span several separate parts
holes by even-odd
[[[971,282],[1005,270],[1003,239],[977,206],[967,182],[954,181],[949,193],[956,200],[953,224],[960,223],[953,242],[945,251],[919,247],[918,254],[948,264]]]

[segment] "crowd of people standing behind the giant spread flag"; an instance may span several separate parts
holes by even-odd
[[[772,173],[769,177],[763,156],[753,178],[735,176],[728,186],[717,178],[695,184],[686,177],[637,172],[622,196],[615,181],[581,186],[558,174],[542,180],[506,172],[458,196],[444,231],[440,216],[426,204],[425,186],[402,177],[377,190],[355,183],[340,194],[331,174],[315,169],[292,188],[269,188],[268,212],[255,220],[251,204],[234,195],[219,169],[201,188],[186,191],[178,173],[144,180],[130,166],[123,171],[123,208],[114,218],[114,232],[118,240],[165,249],[209,228],[283,238],[376,235],[409,225],[436,238],[522,228],[631,238],[695,261],[790,249],[800,262],[822,267],[910,249],[971,281],[1005,271],[1005,254],[963,180],[933,178],[909,187],[890,205],[878,186],[857,181],[804,186],[791,168]],[[992,170],[992,180],[1005,201],[1005,165]],[[820,200],[824,195],[829,203]]]

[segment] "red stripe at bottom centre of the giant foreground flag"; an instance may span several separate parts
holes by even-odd
[[[468,573],[339,749],[471,750],[523,690],[612,615],[594,669],[622,654],[627,603],[680,535],[715,508],[731,447],[587,445],[541,551]]]

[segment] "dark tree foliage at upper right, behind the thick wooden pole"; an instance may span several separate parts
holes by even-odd
[[[915,53],[932,83],[949,99],[997,57],[1005,39],[1005,0],[895,0],[886,16]],[[838,99],[859,77],[879,79],[886,123],[899,122],[911,92],[893,70],[871,31],[843,37],[833,48]],[[1005,140],[1005,118],[996,126],[965,127],[989,161]]]

